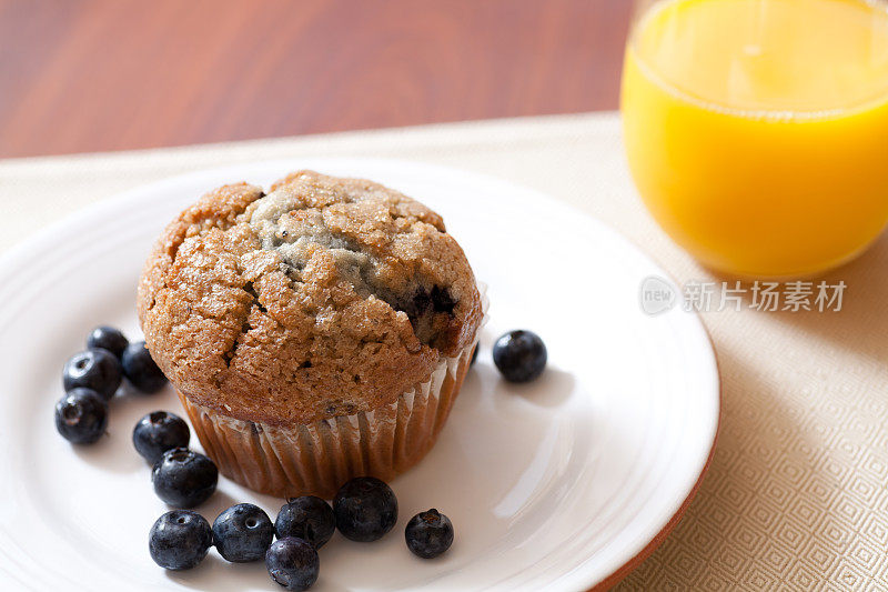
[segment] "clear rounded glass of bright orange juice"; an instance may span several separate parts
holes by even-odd
[[[803,277],[888,221],[888,1],[637,2],[622,111],[647,208],[703,264]]]

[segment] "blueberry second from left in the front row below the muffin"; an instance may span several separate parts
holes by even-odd
[[[252,503],[232,505],[213,522],[213,544],[224,559],[235,563],[265,556],[274,526],[262,508]]]

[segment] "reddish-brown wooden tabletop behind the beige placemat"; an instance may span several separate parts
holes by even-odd
[[[0,0],[0,157],[613,109],[629,0]]]

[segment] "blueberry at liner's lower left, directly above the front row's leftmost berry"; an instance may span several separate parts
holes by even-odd
[[[151,470],[154,493],[175,508],[194,508],[205,502],[215,491],[219,470],[215,463],[186,448],[174,448]]]

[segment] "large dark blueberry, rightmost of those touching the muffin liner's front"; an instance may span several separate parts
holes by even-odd
[[[357,476],[340,488],[333,498],[336,528],[352,541],[381,539],[397,521],[397,499],[375,476]]]

